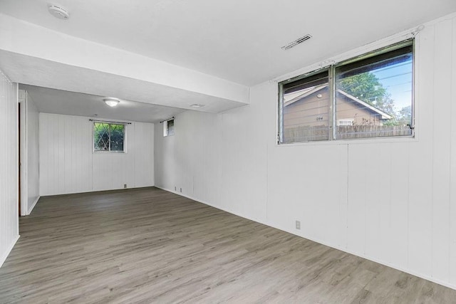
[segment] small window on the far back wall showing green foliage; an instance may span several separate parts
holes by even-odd
[[[125,125],[93,122],[93,150],[125,152]]]

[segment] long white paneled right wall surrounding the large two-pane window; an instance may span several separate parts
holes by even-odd
[[[456,288],[455,14],[425,25],[415,59],[415,139],[278,146],[271,80],[246,107],[177,115],[174,137],[157,124],[155,184]]]

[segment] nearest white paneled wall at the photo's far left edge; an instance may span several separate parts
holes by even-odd
[[[0,71],[0,266],[19,239],[17,91]]]

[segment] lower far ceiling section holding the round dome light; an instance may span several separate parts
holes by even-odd
[[[39,112],[46,113],[115,120],[132,120],[134,117],[134,120],[138,122],[158,122],[185,111],[179,108],[138,103],[130,100],[120,100],[117,106],[111,108],[103,102],[105,96],[54,90],[33,85],[19,85],[19,88],[28,92]]]

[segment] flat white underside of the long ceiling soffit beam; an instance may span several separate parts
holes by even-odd
[[[245,103],[167,87],[144,80],[0,50],[0,70],[13,81],[38,87],[109,96],[199,112],[223,112]],[[102,100],[102,98],[100,98]],[[202,108],[193,108],[198,103]]]

